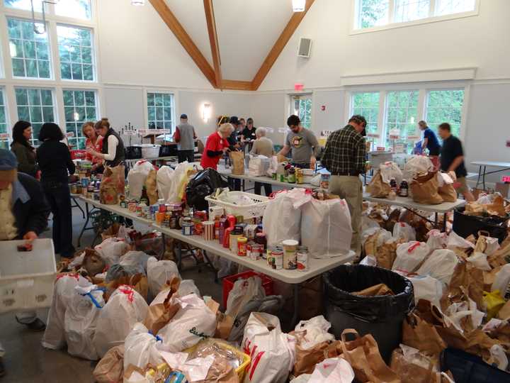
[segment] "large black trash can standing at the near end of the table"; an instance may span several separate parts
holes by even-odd
[[[343,265],[324,273],[326,318],[339,339],[346,328],[360,335],[371,334],[380,354],[390,362],[391,353],[402,340],[402,322],[414,308],[411,281],[391,270],[365,265]],[[395,295],[358,296],[375,284],[384,283]]]

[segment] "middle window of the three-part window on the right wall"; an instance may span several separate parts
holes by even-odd
[[[408,135],[416,134],[416,114],[418,110],[418,91],[389,91],[386,96],[386,145],[404,144],[404,152],[412,143],[407,142]],[[390,140],[393,132],[399,135],[398,140]]]

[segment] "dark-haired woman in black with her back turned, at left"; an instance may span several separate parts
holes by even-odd
[[[72,213],[71,194],[67,184],[68,172],[76,170],[67,145],[61,143],[64,138],[56,123],[45,123],[39,132],[42,144],[37,149],[41,170],[42,189],[50,203],[53,213],[53,245],[61,257],[72,257]]]

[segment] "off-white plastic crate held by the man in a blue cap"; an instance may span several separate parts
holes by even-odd
[[[33,241],[32,251],[19,252],[26,240],[0,241],[0,313],[50,307],[57,275],[50,239]]]

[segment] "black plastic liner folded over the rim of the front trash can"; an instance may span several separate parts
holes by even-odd
[[[342,265],[325,272],[324,296],[337,311],[365,322],[392,321],[414,309],[414,289],[409,279],[391,270],[365,265]],[[384,283],[395,295],[358,296],[375,284]]]

